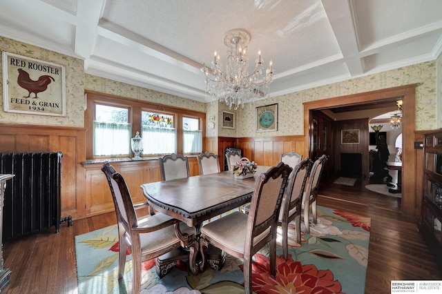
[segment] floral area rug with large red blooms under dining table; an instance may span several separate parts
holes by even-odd
[[[304,227],[302,224],[301,230]],[[271,277],[268,248],[253,262],[256,293],[364,293],[369,248],[370,219],[318,206],[318,224],[302,233],[296,244],[294,226],[289,229],[289,259],[278,241],[277,275]],[[279,238],[280,236],[278,236]],[[117,226],[75,237],[78,292],[130,293],[131,252],[127,249],[124,280],[117,279]],[[161,280],[155,261],[144,262],[142,293],[244,293],[242,260],[227,255],[221,271],[207,268],[193,275],[183,261]]]

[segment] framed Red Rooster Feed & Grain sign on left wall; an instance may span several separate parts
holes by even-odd
[[[3,51],[3,110],[66,116],[64,66]]]

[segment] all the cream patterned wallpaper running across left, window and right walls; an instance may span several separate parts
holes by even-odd
[[[62,64],[66,67],[66,117],[47,115],[20,115],[3,112],[3,79],[0,81],[0,123],[36,124],[49,126],[84,126],[84,90],[94,90],[108,94],[130,97],[158,104],[206,112],[215,116],[215,130],[207,131],[208,137],[259,137],[303,134],[303,106],[305,101],[327,99],[383,88],[392,88],[419,83],[416,88],[416,130],[430,130],[442,127],[442,57],[435,61],[397,68],[366,77],[349,79],[307,90],[301,90],[279,97],[244,106],[236,112],[236,129],[221,128],[221,112],[228,110],[224,104],[204,104],[202,102],[174,95],[132,86],[119,81],[84,74],[84,62],[36,46],[0,36],[0,50]],[[0,61],[1,63],[1,61]],[[438,75],[439,73],[439,75]],[[255,108],[267,104],[278,104],[278,131],[255,132]]]

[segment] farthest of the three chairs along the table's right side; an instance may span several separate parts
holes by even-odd
[[[302,197],[302,210],[304,210],[305,233],[310,233],[310,206],[313,222],[314,224],[318,223],[318,214],[316,213],[316,200],[318,198],[320,176],[323,173],[325,161],[327,161],[326,155],[322,155],[321,157],[316,159],[316,161],[314,161],[313,166],[311,166],[307,188],[305,188],[305,193]]]

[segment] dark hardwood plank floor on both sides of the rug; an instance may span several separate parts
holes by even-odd
[[[318,198],[321,206],[372,218],[365,293],[390,293],[391,280],[442,280],[416,219],[401,214],[400,199],[376,195],[365,184],[368,179],[353,187],[330,179],[320,185]],[[106,213],[63,224],[58,234],[52,228],[5,244],[4,264],[12,275],[4,292],[77,293],[74,237],[115,223],[115,213]]]

